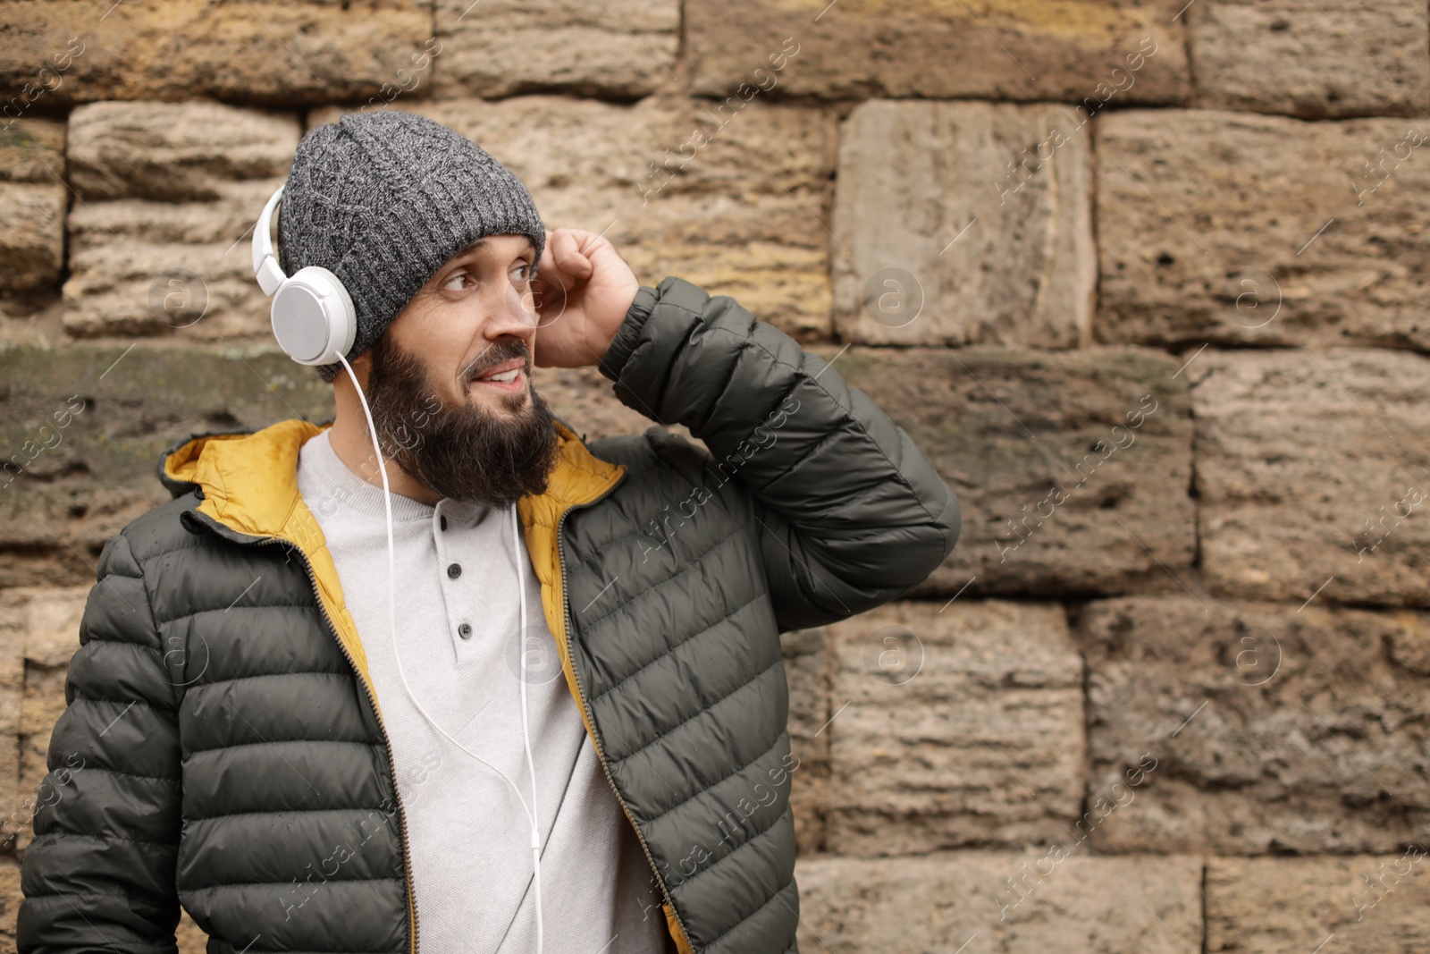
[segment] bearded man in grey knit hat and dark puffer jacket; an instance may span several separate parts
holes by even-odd
[[[100,558],[21,954],[172,951],[180,903],[223,954],[795,951],[779,632],[927,576],[952,492],[832,366],[546,233],[430,120],[309,132],[279,245],[352,297],[398,624],[340,366],[330,426],[172,449],[173,502]],[[712,455],[662,428],[588,448],[533,363],[598,366]]]

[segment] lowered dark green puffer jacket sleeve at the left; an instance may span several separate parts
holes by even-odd
[[[177,951],[180,747],[166,662],[143,572],[114,536],[50,735],[20,871],[19,954]]]

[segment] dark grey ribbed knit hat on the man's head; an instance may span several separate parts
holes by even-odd
[[[279,265],[320,265],[352,296],[368,350],[443,262],[488,235],[546,229],[526,186],[486,150],[425,116],[347,113],[307,132],[279,203]],[[342,365],[322,365],[332,380]]]

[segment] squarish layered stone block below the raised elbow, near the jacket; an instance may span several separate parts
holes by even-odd
[[[1087,749],[1083,661],[1060,606],[905,602],[828,629],[829,851],[1062,835]]]

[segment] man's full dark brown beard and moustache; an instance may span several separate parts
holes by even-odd
[[[526,359],[522,372],[529,382],[531,352],[521,340],[493,345],[463,380],[512,358]],[[368,403],[379,446],[420,483],[456,501],[511,506],[545,492],[556,462],[556,432],[546,402],[535,386],[528,383],[528,390],[529,402],[521,393],[502,395],[509,413],[488,410],[472,398],[445,406],[418,359],[389,335],[372,348]]]

